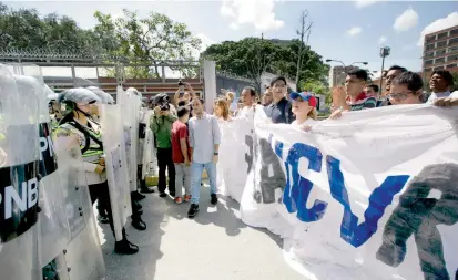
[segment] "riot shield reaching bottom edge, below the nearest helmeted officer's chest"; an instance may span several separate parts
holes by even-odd
[[[54,147],[59,159],[58,173],[63,185],[69,186],[64,191],[64,203],[72,238],[65,249],[43,268],[43,272],[47,269],[60,271],[59,279],[103,279],[105,266],[80,145],[74,135],[58,136],[54,138]]]

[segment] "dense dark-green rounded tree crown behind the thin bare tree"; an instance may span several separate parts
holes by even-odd
[[[227,71],[261,83],[263,72],[294,77],[301,41],[292,40],[276,44],[271,40],[245,38],[240,41],[225,41],[210,45],[201,58],[216,61],[217,70]],[[325,81],[329,72],[322,56],[304,46],[303,68],[299,81]]]

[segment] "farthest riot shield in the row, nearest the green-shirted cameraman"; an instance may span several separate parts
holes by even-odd
[[[118,101],[122,110],[122,123],[124,127],[125,155],[129,169],[129,186],[131,191],[136,191],[136,165],[139,145],[139,111],[141,98],[132,92],[124,92],[118,86]]]

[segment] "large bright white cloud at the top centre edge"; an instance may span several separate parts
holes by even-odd
[[[232,18],[232,29],[253,24],[258,31],[278,30],[285,22],[276,19],[274,7],[274,0],[224,0],[220,13]]]

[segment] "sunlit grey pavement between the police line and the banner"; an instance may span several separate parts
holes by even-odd
[[[101,227],[106,280],[304,279],[283,260],[278,237],[243,224],[238,204],[230,198],[212,206],[207,187],[193,220],[186,216],[189,204],[175,205],[157,193],[147,195],[142,205],[147,229],[138,231],[130,222],[126,227],[139,253],[114,255],[110,227]]]

